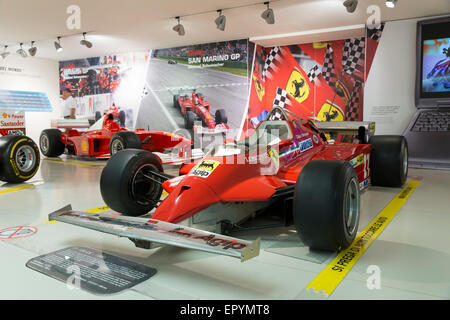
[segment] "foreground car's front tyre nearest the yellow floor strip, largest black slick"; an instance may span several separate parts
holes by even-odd
[[[347,161],[315,160],[300,172],[294,192],[294,224],[303,243],[339,251],[358,232],[359,181]]]

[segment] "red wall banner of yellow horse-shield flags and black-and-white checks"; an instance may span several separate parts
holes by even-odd
[[[364,83],[384,25],[367,36],[273,48],[256,47],[242,137],[274,106],[304,119],[361,121]]]

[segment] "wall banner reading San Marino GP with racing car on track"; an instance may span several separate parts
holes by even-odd
[[[253,47],[241,39],[153,50],[137,127],[201,136],[203,149],[212,138],[237,137]]]

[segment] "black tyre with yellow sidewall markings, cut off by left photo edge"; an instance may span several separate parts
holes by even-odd
[[[0,180],[19,183],[31,179],[39,169],[39,148],[26,136],[0,137]]]

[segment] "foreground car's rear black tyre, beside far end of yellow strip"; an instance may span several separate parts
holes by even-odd
[[[408,177],[408,143],[403,136],[373,136],[370,141],[371,182],[374,186],[398,188]]]

